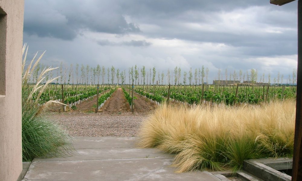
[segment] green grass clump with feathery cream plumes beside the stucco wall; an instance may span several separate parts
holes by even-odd
[[[53,104],[59,104],[56,100],[50,100],[44,105],[39,104],[39,99],[47,85],[54,79],[45,80],[45,74],[55,68],[45,68],[37,77],[35,84],[30,84],[29,80],[35,67],[42,58],[43,54],[34,63],[37,54],[27,68],[26,63],[27,49],[23,47],[24,60],[22,63],[22,157],[23,161],[31,161],[34,157],[60,156],[69,153],[72,148],[70,137],[58,125],[50,122],[43,117],[43,112]],[[33,65],[34,63],[34,65]],[[33,99],[35,95],[35,100]]]

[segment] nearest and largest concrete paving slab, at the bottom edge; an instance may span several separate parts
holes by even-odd
[[[86,161],[40,161],[31,164],[23,180],[219,180],[217,177],[201,171],[175,173],[175,168],[170,167],[172,160],[172,158],[134,158]]]

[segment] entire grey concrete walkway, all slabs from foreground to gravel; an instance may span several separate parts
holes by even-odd
[[[206,180],[218,181],[204,171],[175,173],[173,155],[154,148],[136,147],[135,137],[75,137],[73,156],[35,158],[25,180]]]

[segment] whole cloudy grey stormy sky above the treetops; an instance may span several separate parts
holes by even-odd
[[[297,68],[297,1],[269,0],[26,0],[24,43],[29,57],[73,69],[97,65],[209,68],[209,80],[258,70],[286,83]],[[156,76],[157,77],[157,76]],[[224,79],[224,78],[223,78]],[[127,80],[127,78],[126,78]]]

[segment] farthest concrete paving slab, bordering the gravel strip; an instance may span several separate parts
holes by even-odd
[[[74,137],[75,149],[137,147],[137,137]]]

